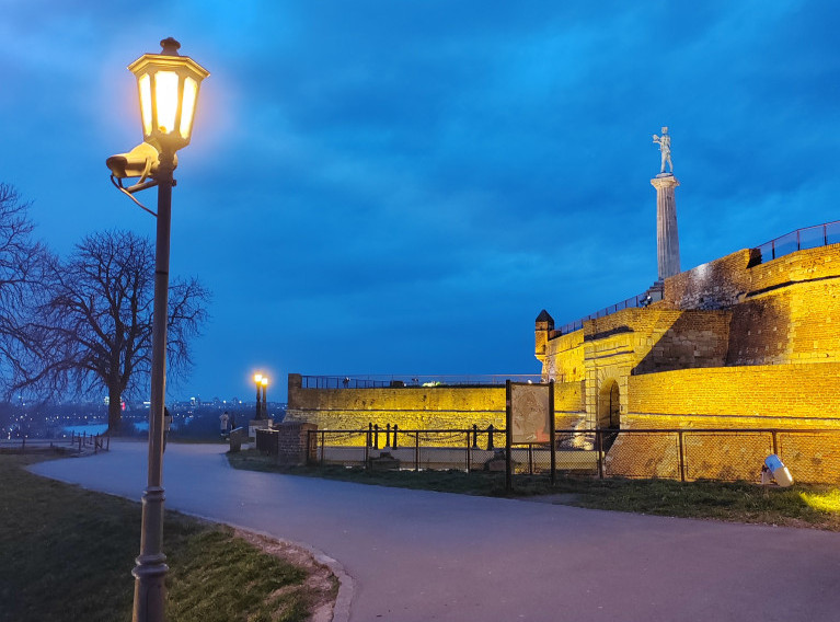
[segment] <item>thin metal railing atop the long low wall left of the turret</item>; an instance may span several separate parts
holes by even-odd
[[[482,376],[301,376],[303,389],[402,389],[417,387],[505,385],[505,381],[540,382],[539,373],[496,373]]]

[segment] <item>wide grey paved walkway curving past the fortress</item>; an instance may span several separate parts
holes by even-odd
[[[840,619],[840,533],[237,471],[223,451],[171,445],[166,507],[338,560],[354,622]],[[116,442],[33,470],[139,499],[146,456]]]

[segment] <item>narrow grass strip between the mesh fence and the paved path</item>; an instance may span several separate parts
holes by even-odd
[[[237,469],[272,471],[290,475],[329,477],[361,484],[398,486],[484,496],[528,497],[532,500],[592,509],[709,518],[735,522],[760,522],[786,527],[813,527],[840,531],[840,488],[796,484],[790,488],[748,482],[687,482],[672,480],[596,480],[515,475],[514,495],[505,492],[505,474],[463,471],[382,471],[361,468],[281,468],[254,449],[228,453]]]

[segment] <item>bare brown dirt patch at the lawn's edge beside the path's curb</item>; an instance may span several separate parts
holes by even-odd
[[[264,553],[274,555],[275,557],[279,557],[303,568],[308,575],[304,587],[311,595],[312,615],[309,618],[309,622],[330,622],[333,619],[333,608],[335,606],[335,598],[338,594],[338,579],[327,566],[317,562],[312,556],[312,553],[302,546],[297,546],[290,542],[275,540],[274,538],[243,531],[241,529],[234,529],[233,533],[237,538],[241,538],[253,544]],[[281,590],[272,594],[269,598],[276,597],[286,589],[299,588],[283,588]]]

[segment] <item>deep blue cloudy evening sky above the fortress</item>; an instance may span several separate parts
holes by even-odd
[[[153,237],[104,162],[141,139],[126,66],[173,36],[211,76],[171,269],[214,292],[173,395],[253,399],[257,368],[533,373],[541,309],[563,324],[656,279],[663,125],[683,268],[840,218],[839,16],[828,0],[0,0],[0,181],[62,255],[94,230]]]

